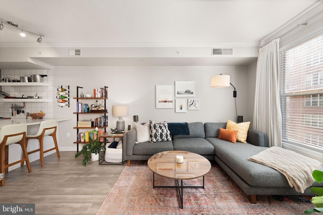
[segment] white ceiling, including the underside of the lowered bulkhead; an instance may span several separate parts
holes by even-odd
[[[4,25],[0,47],[256,47],[319,0],[0,0],[0,19],[36,34],[19,36]],[[62,65],[246,64],[255,56],[82,59],[35,58]],[[1,59],[0,59],[1,60]],[[2,62],[1,65],[10,64]],[[1,68],[1,67],[0,67]]]

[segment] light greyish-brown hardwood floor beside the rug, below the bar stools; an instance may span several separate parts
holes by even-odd
[[[99,165],[90,161],[84,167],[83,156],[60,152],[5,174],[0,187],[1,203],[35,203],[36,214],[96,214],[117,181],[125,165]]]

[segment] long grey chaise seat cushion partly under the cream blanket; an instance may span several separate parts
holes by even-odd
[[[239,175],[246,183],[254,187],[290,187],[286,177],[277,170],[249,161],[248,158],[267,149],[251,144],[237,142],[228,144],[227,141],[207,137],[215,149],[216,157]]]

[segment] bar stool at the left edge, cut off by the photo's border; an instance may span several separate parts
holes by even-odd
[[[31,167],[27,154],[26,146],[27,124],[4,125],[0,128],[0,150],[1,150],[1,167],[0,173],[7,173],[8,168],[26,161],[28,172],[31,172]],[[22,159],[9,164],[9,145],[19,144],[22,149]],[[5,185],[5,178],[0,181],[0,186]]]

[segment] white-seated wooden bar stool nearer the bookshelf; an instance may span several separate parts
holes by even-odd
[[[28,152],[28,155],[35,153],[35,152],[40,152],[40,163],[41,166],[44,166],[44,153],[56,150],[56,154],[58,158],[61,158],[60,152],[59,152],[59,147],[57,145],[57,139],[56,139],[56,129],[57,129],[57,120],[46,120],[40,122],[39,129],[37,133],[35,134],[27,134],[26,136],[26,146],[28,145],[28,140],[29,139],[38,139],[39,141],[39,149]],[[51,136],[52,139],[54,140],[55,147],[51,148],[49,150],[44,151],[44,136]],[[24,163],[21,165],[23,166]]]

